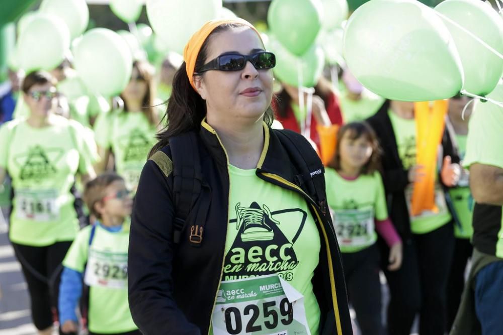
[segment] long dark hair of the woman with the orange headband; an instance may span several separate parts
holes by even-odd
[[[196,59],[195,68],[199,69],[206,63],[208,45],[212,36],[238,27],[246,26],[231,23],[215,28],[204,41]],[[204,73],[200,75],[204,76]],[[173,78],[173,90],[167,101],[166,114],[164,116],[164,119],[167,120],[166,126],[157,134],[158,142],[150,150],[148,157],[167,146],[172,136],[199,130],[204,117],[206,117],[206,101],[192,88],[187,75],[186,63],[183,62]],[[266,110],[264,121],[271,126],[273,120],[273,110],[269,106]]]

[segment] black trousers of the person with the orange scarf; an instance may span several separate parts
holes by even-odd
[[[452,223],[427,234],[414,234],[405,241],[402,267],[388,271],[383,264],[389,290],[388,331],[409,335],[417,312],[420,335],[443,335],[446,288],[454,249]],[[389,249],[381,247],[384,255]],[[387,256],[385,258],[387,260]]]

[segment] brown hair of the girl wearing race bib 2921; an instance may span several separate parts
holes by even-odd
[[[372,155],[370,156],[367,164],[362,167],[361,173],[373,174],[375,171],[379,170],[381,164],[381,147],[379,146],[379,141],[377,140],[377,136],[374,130],[366,122],[351,122],[339,129],[339,131],[337,132],[336,154],[333,156],[333,159],[327,164],[328,167],[336,170],[341,169],[341,140],[348,132],[352,140],[356,140],[361,136],[364,136],[370,142],[372,147]]]

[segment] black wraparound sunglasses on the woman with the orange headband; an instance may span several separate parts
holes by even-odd
[[[209,70],[239,71],[250,62],[257,70],[272,69],[276,66],[276,56],[272,52],[261,51],[251,55],[223,54],[204,64],[197,73]]]

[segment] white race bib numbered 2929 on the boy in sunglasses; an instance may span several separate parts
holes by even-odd
[[[84,282],[88,286],[127,287],[127,253],[114,254],[91,249]]]

